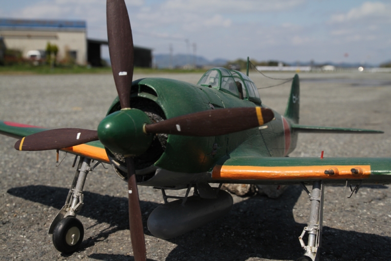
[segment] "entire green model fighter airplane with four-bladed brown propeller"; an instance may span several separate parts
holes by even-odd
[[[97,130],[47,130],[0,121],[1,134],[20,139],[17,150],[55,149],[80,156],[65,205],[49,228],[60,252],[76,251],[83,240],[84,228],[76,215],[83,206],[87,173],[96,166],[91,167],[91,160],[111,164],[128,182],[136,261],[146,260],[137,185],[162,190],[165,204],[152,212],[148,228],[154,236],[167,239],[230,210],[233,200],[220,190],[222,183],[300,184],[311,207],[308,225],[299,237],[305,251],[299,260],[315,261],[321,245],[324,186],[356,185],[357,192],[363,184],[391,182],[390,159],[285,157],[295,149],[300,132],[382,133],[299,125],[297,75],[284,115],[262,104],[253,81],[239,71],[211,69],[197,85],[162,78],[132,81],[133,43],[124,0],[107,1],[107,23],[118,97]],[[304,185],[312,185],[312,191]],[[194,194],[189,196],[191,188]],[[187,189],[186,195],[166,194],[178,189]]]

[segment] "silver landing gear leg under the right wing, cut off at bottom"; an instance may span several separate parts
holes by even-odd
[[[320,247],[322,245],[322,222],[323,222],[323,200],[325,185],[322,181],[315,181],[312,184],[312,191],[308,193],[311,200],[309,211],[309,221],[304,227],[299,240],[302,248],[305,250],[304,256],[297,261],[319,261]],[[308,244],[305,245],[303,237],[305,232],[308,233]]]

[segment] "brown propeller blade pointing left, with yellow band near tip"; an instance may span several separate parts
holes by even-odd
[[[54,129],[26,136],[15,143],[17,150],[62,149],[98,140],[98,132],[77,128]]]

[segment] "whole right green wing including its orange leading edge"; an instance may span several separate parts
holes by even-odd
[[[271,158],[233,157],[212,171],[214,181],[253,184],[298,184],[323,180],[326,184],[391,183],[390,158]]]

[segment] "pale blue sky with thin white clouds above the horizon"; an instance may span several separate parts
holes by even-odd
[[[86,20],[107,39],[105,0],[1,0],[1,18]],[[126,0],[134,44],[155,54],[286,62],[391,60],[389,0]],[[186,44],[186,39],[189,45]],[[106,52],[105,52],[106,53]],[[346,55],[348,54],[348,55]]]

